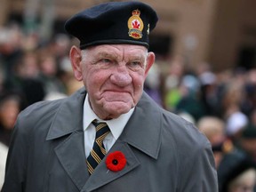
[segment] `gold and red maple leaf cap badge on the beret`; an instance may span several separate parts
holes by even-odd
[[[135,39],[142,38],[142,30],[144,28],[143,21],[140,19],[140,11],[133,10],[132,16],[128,20],[129,36]]]

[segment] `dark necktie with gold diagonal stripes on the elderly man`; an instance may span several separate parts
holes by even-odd
[[[107,153],[103,146],[103,140],[108,135],[108,132],[110,132],[108,124],[106,123],[97,123],[94,120],[92,121],[92,124],[94,124],[96,128],[96,137],[93,143],[92,151],[90,152],[90,155],[87,157],[86,161],[90,174],[92,174],[96,166],[100,164],[100,161]]]

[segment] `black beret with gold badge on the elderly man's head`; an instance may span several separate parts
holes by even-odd
[[[97,44],[139,44],[148,48],[149,32],[156,27],[156,12],[141,2],[109,2],[78,12],[65,23],[80,40],[80,48]]]

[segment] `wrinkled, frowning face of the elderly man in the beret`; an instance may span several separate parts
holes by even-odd
[[[82,79],[76,79],[84,81],[93,111],[102,119],[111,119],[134,108],[154,53],[140,45],[103,44],[89,47],[81,55]]]

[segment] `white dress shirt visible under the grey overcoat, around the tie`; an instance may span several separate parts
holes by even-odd
[[[114,145],[118,137],[123,132],[124,126],[125,124],[127,124],[129,118],[132,116],[133,111],[134,111],[134,108],[132,108],[128,113],[123,114],[116,119],[111,119],[108,121],[102,120],[93,112],[89,104],[88,94],[86,94],[86,97],[84,100],[84,117],[83,117],[84,149],[85,149],[86,158],[90,155],[90,152],[93,147],[93,142],[95,140],[95,135],[96,135],[95,126],[92,124],[92,121],[94,119],[97,119],[99,122],[105,122],[106,124],[108,124],[110,132],[108,133],[106,138],[103,140],[104,147],[108,152],[108,150]]]

